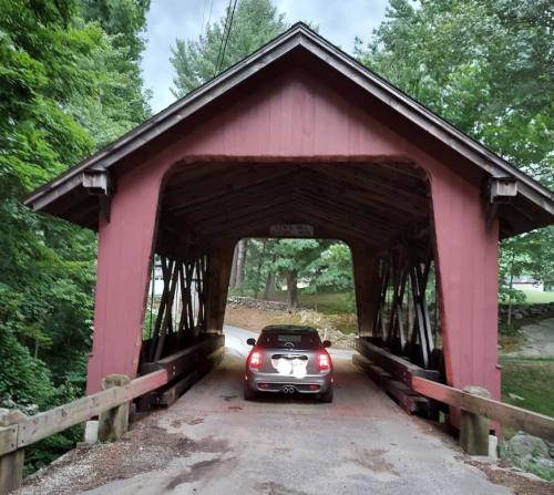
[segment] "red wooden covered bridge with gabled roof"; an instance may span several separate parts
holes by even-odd
[[[301,224],[350,246],[360,338],[500,399],[499,240],[554,223],[552,192],[301,23],[24,203],[99,233],[89,393],[220,333],[236,243]]]

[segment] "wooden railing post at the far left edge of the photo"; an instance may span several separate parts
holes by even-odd
[[[8,430],[6,436],[0,436],[0,443],[9,442],[18,444],[18,423],[27,420],[27,416],[18,410],[10,411],[0,409],[0,427],[14,426]],[[0,445],[1,446],[1,445]],[[4,495],[21,487],[23,479],[24,448],[18,448],[0,456],[0,495]]]

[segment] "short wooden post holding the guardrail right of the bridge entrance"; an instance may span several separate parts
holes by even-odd
[[[465,386],[465,393],[480,398],[491,399],[491,394],[482,386]],[[489,430],[488,417],[478,416],[462,410],[460,414],[460,446],[470,455],[489,455]]]

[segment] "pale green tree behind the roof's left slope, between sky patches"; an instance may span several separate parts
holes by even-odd
[[[170,61],[176,72],[172,89],[176,97],[209,81],[288,29],[285,14],[279,13],[270,0],[240,0],[233,23],[228,21],[229,13],[227,10],[219,22],[207,24],[206,33],[201,34],[198,41],[175,40]]]

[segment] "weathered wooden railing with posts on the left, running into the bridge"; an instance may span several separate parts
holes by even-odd
[[[224,344],[224,336],[206,339],[162,360],[156,364],[157,370],[131,381],[123,375],[106,377],[103,381],[103,385],[110,386],[106,390],[34,416],[27,417],[20,411],[0,410],[0,495],[21,486],[27,446],[93,416],[100,416],[99,427],[102,427],[104,417],[107,429],[112,430],[105,434],[105,439],[117,440],[126,432],[129,404],[133,399],[164,388],[183,373],[188,374],[181,382],[184,380],[188,386],[192,385],[219,362],[222,354],[218,350]],[[215,353],[218,355],[214,357]],[[117,386],[119,383],[126,384]],[[181,390],[184,390],[183,386]],[[123,426],[114,424],[116,417],[122,419]]]

